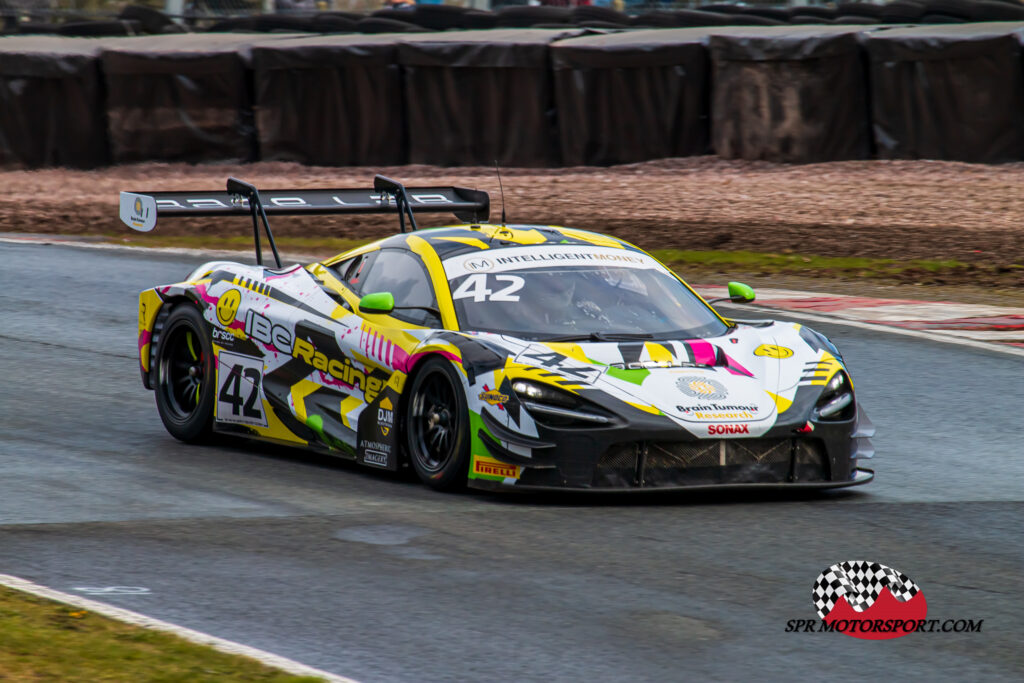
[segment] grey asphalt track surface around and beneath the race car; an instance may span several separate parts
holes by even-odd
[[[0,573],[361,681],[1020,680],[1024,362],[815,325],[879,428],[813,496],[490,496],[224,442],[138,379],[139,290],[194,259],[0,245]],[[981,633],[785,633],[843,560]],[[2,640],[0,640],[2,646]]]

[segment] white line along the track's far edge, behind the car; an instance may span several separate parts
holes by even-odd
[[[145,252],[145,253],[156,253],[156,254],[172,254],[178,256],[196,256],[196,257],[208,257],[208,258],[237,258],[240,256],[248,256],[249,252],[243,251],[207,251],[202,249],[187,249],[182,247],[134,247],[128,245],[113,245],[109,243],[95,243],[95,242],[76,242],[73,240],[62,239],[60,237],[54,236],[32,236],[31,238],[20,238],[15,233],[7,232],[3,237],[0,237],[0,243],[7,242],[10,244],[50,244],[59,245],[61,247],[78,247],[82,249],[111,249],[118,251],[131,251],[131,252]],[[316,260],[315,256],[306,256],[303,254],[282,254],[283,260]],[[754,305],[752,307],[739,307],[730,306],[728,304],[719,304],[723,308],[729,310],[758,310],[766,312],[770,315],[778,317],[797,318],[797,322],[801,319],[812,321],[814,323],[829,323],[831,325],[845,325],[851,328],[860,328],[861,330],[870,330],[872,332],[887,332],[893,335],[903,335],[904,337],[914,337],[916,339],[927,339],[928,341],[943,342],[946,344],[956,344],[958,346],[967,346],[969,348],[976,348],[983,351],[992,351],[993,353],[1006,353],[1009,355],[1018,355],[1024,357],[1024,348],[1016,346],[1008,346],[1006,344],[991,344],[988,342],[977,341],[974,339],[965,339],[963,337],[954,337],[952,335],[944,335],[941,332],[926,332],[922,330],[905,330],[903,328],[889,327],[887,325],[878,325],[873,323],[863,323],[861,321],[851,321],[843,317],[833,317],[830,315],[818,315],[815,313],[805,313],[803,311],[786,310],[784,308],[769,308],[760,307]],[[741,317],[741,315],[740,315]]]

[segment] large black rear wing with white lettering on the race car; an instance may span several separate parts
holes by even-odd
[[[467,222],[484,222],[490,213],[485,191],[467,187],[404,187],[383,175],[374,178],[373,189],[263,189],[237,178],[227,179],[225,191],[121,193],[121,221],[148,232],[161,216],[251,216],[256,262],[263,263],[259,223],[262,219],[273,258],[281,265],[270,232],[268,215],[301,216],[332,213],[394,213],[406,231],[406,218],[416,229],[413,210],[454,213]]]

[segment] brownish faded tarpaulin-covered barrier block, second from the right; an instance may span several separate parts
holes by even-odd
[[[793,163],[866,159],[866,68],[857,38],[863,31],[766,27],[712,36],[716,154]]]

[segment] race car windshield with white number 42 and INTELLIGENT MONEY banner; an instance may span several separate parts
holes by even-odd
[[[646,254],[513,247],[444,261],[463,330],[526,339],[693,339],[727,326]]]

